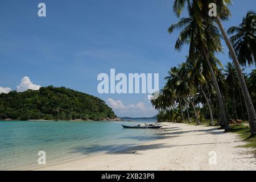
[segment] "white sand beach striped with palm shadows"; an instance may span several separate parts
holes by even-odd
[[[245,142],[217,127],[163,123],[156,140],[90,158],[81,158],[37,170],[256,170],[256,159]],[[209,152],[217,164],[209,164]]]

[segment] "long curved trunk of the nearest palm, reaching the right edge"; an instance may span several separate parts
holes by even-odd
[[[234,48],[232,47],[232,44],[230,43],[228,35],[226,34],[224,27],[221,24],[221,20],[218,16],[215,18],[215,22],[218,24],[218,27],[220,28],[221,34],[226,42],[226,46],[228,46],[228,48],[229,48],[230,55],[233,59],[234,65],[236,67],[237,77],[238,77],[238,80],[241,85],[243,97],[245,98],[245,105],[246,105],[246,109],[247,109],[247,113],[248,113],[248,117],[249,117],[251,137],[254,137],[254,135],[256,134],[256,113],[255,113],[255,109],[253,106],[253,102],[251,101],[251,97],[250,97],[248,88],[246,86],[245,78],[243,77],[243,73],[242,73],[240,64],[238,62],[236,53],[234,52]]]

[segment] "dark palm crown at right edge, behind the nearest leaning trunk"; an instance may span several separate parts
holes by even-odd
[[[246,17],[238,27],[230,27],[228,34],[235,34],[230,37],[241,65],[256,65],[256,13],[248,11]]]

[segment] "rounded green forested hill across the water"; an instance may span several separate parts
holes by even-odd
[[[112,109],[100,98],[64,87],[0,94],[0,119],[113,119]]]

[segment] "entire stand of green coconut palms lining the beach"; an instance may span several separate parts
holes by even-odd
[[[210,3],[216,4],[217,16],[209,15]],[[217,119],[228,132],[228,119],[247,119],[251,137],[256,135],[255,70],[246,75],[241,68],[256,65],[256,13],[248,11],[241,24],[226,32],[221,21],[231,16],[231,4],[230,0],[174,1],[177,17],[183,10],[188,16],[171,24],[168,32],[179,30],[175,49],[188,44],[189,51],[180,65],[170,69],[158,99],[151,101],[160,121],[191,122],[193,114],[197,124],[208,117],[213,125]],[[221,38],[233,61],[225,67],[216,57],[223,52]]]

